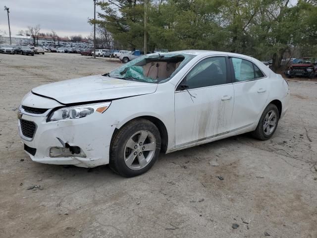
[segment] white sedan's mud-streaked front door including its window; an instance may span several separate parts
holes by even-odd
[[[224,56],[199,61],[175,91],[176,147],[227,133],[231,128],[233,85]]]

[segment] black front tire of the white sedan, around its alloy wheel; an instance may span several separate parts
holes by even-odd
[[[146,139],[140,139],[141,134]],[[140,141],[144,141],[149,150]],[[135,147],[129,147],[128,144]],[[109,166],[123,177],[139,176],[151,169],[159,157],[159,151],[160,134],[156,125],[147,119],[135,119],[114,134],[110,144]]]

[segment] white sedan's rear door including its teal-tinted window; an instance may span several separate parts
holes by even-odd
[[[268,100],[268,80],[253,62],[241,58],[229,59],[233,77],[234,130],[253,126],[263,112]]]

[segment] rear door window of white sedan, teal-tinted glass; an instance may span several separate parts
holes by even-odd
[[[230,58],[235,74],[235,81],[241,82],[255,78],[253,63],[239,58]]]

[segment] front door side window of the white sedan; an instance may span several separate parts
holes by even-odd
[[[227,83],[226,60],[224,57],[211,57],[200,61],[186,75],[189,88],[201,88]]]

